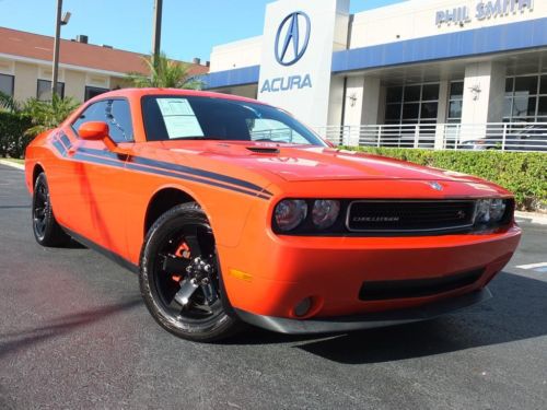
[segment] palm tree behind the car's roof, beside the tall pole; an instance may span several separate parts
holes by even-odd
[[[136,87],[200,90],[203,85],[201,80],[190,73],[190,65],[170,60],[163,52],[158,59],[150,56],[143,57],[142,61],[150,72],[149,75],[139,72],[128,73],[129,81]]]

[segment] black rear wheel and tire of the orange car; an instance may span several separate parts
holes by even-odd
[[[69,243],[70,237],[57,223],[46,174],[40,173],[34,184],[32,202],[33,232],[36,242],[46,247],[60,247]]]

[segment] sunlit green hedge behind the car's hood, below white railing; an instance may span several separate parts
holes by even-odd
[[[547,207],[547,153],[353,147],[346,149],[476,175],[512,191],[521,210],[532,211]]]

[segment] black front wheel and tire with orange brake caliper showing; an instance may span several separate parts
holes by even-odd
[[[152,225],[139,284],[152,317],[179,338],[213,342],[241,328],[223,291],[211,226],[195,202],[172,208]]]

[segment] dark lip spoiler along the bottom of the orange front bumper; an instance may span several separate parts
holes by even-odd
[[[435,317],[488,301],[491,297],[492,294],[490,293],[488,288],[485,288],[479,291],[464,294],[459,297],[449,298],[416,308],[374,312],[364,315],[329,317],[309,320],[254,315],[241,309],[235,309],[235,313],[243,321],[246,321],[249,325],[254,325],[280,333],[330,333],[373,329],[430,320],[434,319]]]

